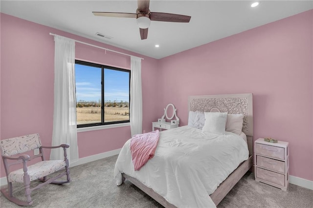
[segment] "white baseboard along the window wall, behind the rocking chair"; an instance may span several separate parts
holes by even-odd
[[[91,155],[88,157],[79,158],[77,162],[71,163],[69,165],[69,167],[79,166],[79,165],[83,165],[85,163],[90,163],[92,161],[111,157],[113,155],[118,155],[120,151],[121,151],[121,148],[120,149],[114,149],[114,150],[108,151],[108,152],[103,152],[103,153],[96,154],[96,155]],[[0,186],[5,186],[5,185],[7,185],[6,177],[0,178]]]

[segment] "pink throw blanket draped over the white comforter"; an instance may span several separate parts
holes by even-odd
[[[135,170],[139,170],[149,159],[153,158],[159,136],[159,130],[133,136],[131,139],[131,152]]]

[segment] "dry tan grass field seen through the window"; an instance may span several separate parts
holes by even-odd
[[[101,107],[76,107],[77,124],[101,122]],[[128,107],[104,107],[105,122],[129,120]]]

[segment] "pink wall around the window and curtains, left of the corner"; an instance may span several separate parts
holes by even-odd
[[[43,145],[51,145],[53,127],[54,41],[49,33],[143,57],[143,130],[151,131],[158,118],[157,62],[100,42],[1,14],[1,126],[0,138],[39,133]],[[76,43],[76,58],[130,68],[130,58]],[[131,137],[130,127],[78,133],[79,157],[118,149]],[[49,157],[50,152],[46,152]],[[0,177],[4,177],[1,160]]]

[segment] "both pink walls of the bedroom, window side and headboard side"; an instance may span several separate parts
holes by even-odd
[[[177,107],[187,124],[189,95],[254,94],[254,139],[290,142],[290,174],[313,180],[312,11],[155,60],[50,27],[0,15],[0,138],[38,132],[51,144],[54,42],[49,32],[141,56],[143,130]],[[100,54],[101,53],[101,54]],[[125,68],[129,58],[76,45],[79,59]],[[120,148],[130,127],[78,133],[79,157]],[[47,153],[49,156],[49,153]],[[4,177],[1,161],[0,177]]]

